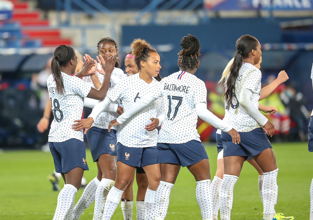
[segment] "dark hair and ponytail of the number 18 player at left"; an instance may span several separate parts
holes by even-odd
[[[55,48],[53,52],[53,58],[51,60],[51,70],[55,84],[57,86],[57,92],[59,94],[64,95],[63,91],[65,91],[60,66],[66,66],[66,64],[71,59],[73,59],[74,56],[75,56],[74,49],[67,45],[60,45],[57,48]]]

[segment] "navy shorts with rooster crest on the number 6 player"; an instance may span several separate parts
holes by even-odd
[[[117,161],[132,167],[145,167],[159,163],[156,146],[148,148],[130,148],[117,143]]]

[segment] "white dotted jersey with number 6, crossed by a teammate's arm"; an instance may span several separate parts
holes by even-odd
[[[139,78],[139,73],[137,73],[122,79],[106,96],[111,101],[121,99],[124,109],[127,110],[132,103],[138,101],[142,96],[158,89],[159,85],[160,83],[155,78],[152,78],[150,84],[146,83]],[[162,99],[155,100],[149,106],[128,118],[125,123],[121,124],[117,142],[120,142],[126,147],[135,148],[156,146],[157,130],[146,131],[145,126],[151,123],[150,118],[157,118],[157,114],[160,113],[164,114]],[[99,105],[101,105],[101,102],[95,106],[89,117],[97,117],[98,112],[101,111],[98,108]]]

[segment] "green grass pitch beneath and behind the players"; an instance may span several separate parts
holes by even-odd
[[[294,216],[295,220],[309,219],[310,183],[313,176],[312,154],[307,143],[273,144],[278,168],[278,201],[276,212]],[[216,171],[217,151],[213,145],[206,147],[211,164],[211,177]],[[35,150],[4,151],[0,154],[0,219],[1,220],[51,220],[54,215],[58,192],[52,191],[47,176],[54,170],[50,153]],[[87,181],[95,178],[96,165],[87,151],[89,171]],[[245,163],[234,188],[232,219],[262,219],[262,203],[258,192],[258,173]],[[62,186],[63,180],[59,185]],[[134,184],[134,194],[136,194]],[[182,168],[170,197],[166,220],[201,219],[195,198],[196,182],[186,168]],[[75,196],[75,203],[82,190]],[[135,197],[135,196],[134,196]],[[80,217],[92,219],[92,204]],[[112,219],[123,219],[121,207],[117,207]],[[136,219],[134,205],[133,219]]]

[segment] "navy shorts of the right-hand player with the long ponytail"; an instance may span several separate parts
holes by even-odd
[[[245,157],[247,160],[249,156],[258,155],[265,149],[272,148],[263,128],[255,128],[249,132],[239,132],[239,135],[240,143],[235,144],[232,141],[232,137],[222,131],[223,157],[240,156]]]

